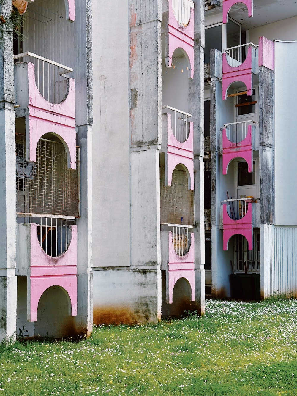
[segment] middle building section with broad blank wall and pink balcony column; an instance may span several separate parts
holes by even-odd
[[[204,312],[204,2],[92,6],[94,322]]]

